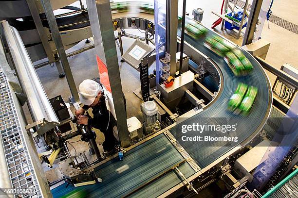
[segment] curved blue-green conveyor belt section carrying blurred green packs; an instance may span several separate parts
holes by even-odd
[[[178,34],[181,34],[180,32]],[[216,34],[213,31],[208,31],[207,35]],[[246,125],[241,130],[236,130],[236,132],[230,132],[230,136],[236,136],[239,139],[239,142],[243,142],[249,137],[252,137],[258,133],[263,127],[267,116],[270,113],[271,104],[272,104],[272,93],[271,86],[266,74],[257,62],[248,52],[241,49],[243,54],[249,59],[253,64],[253,72],[245,77],[235,77],[231,69],[224,62],[223,58],[216,55],[210,49],[207,49],[203,43],[203,39],[194,40],[189,35],[185,35],[185,41],[189,43],[194,48],[198,49],[206,56],[208,56],[221,70],[223,75],[221,91],[218,96],[213,100],[212,105],[206,106],[204,111],[188,118],[184,122],[180,123],[176,127],[172,128],[170,132],[175,135],[176,129],[181,129],[179,126],[183,124],[192,124],[197,123],[198,120],[202,117],[206,118],[204,121],[213,122],[213,124],[221,125],[224,123],[214,123],[214,118],[223,118],[231,117],[234,121],[239,123],[244,122]],[[249,116],[234,115],[227,110],[227,102],[229,98],[233,95],[234,91],[237,88],[239,82],[246,83],[248,85],[256,86],[258,88],[258,95],[256,101],[250,111]],[[219,119],[218,119],[219,120]],[[180,132],[181,134],[181,132]],[[181,135],[177,133],[176,139],[181,140]],[[208,134],[210,136],[216,136],[215,133]],[[179,138],[180,137],[180,138]],[[205,166],[214,162],[217,158],[222,156],[225,152],[230,150],[232,147],[226,146],[222,147],[220,142],[206,142],[202,141],[197,144],[193,142],[184,143],[183,146],[189,155],[197,162],[197,164],[204,168]]]

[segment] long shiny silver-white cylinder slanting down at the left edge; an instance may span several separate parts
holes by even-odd
[[[7,21],[3,21],[1,24],[16,71],[18,71],[21,87],[27,95],[27,102],[33,121],[41,122],[39,123],[42,126],[40,130],[43,132],[49,131],[59,124],[59,120],[39,81],[18,31],[11,27]]]

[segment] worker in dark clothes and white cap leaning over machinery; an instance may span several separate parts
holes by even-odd
[[[90,125],[104,133],[105,141],[103,148],[108,153],[115,148],[116,139],[113,135],[113,126],[115,119],[112,113],[107,109],[104,97],[104,91],[99,78],[98,82],[86,79],[79,85],[79,99],[84,106],[75,111],[78,124]],[[93,118],[84,115],[85,111],[92,108]]]

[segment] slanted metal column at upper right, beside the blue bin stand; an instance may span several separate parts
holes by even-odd
[[[242,46],[251,44],[252,40],[254,39],[254,33],[255,33],[256,25],[257,25],[258,18],[259,18],[259,15],[260,15],[262,2],[263,2],[263,0],[254,0],[252,5],[251,5],[251,9],[250,9],[250,13],[249,13],[249,18],[248,18],[247,27],[246,27],[246,31],[245,31],[245,34],[244,34]]]

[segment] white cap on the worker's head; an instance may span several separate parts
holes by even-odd
[[[80,102],[91,105],[99,92],[103,92],[103,89],[97,82],[90,79],[84,80],[78,90]]]

